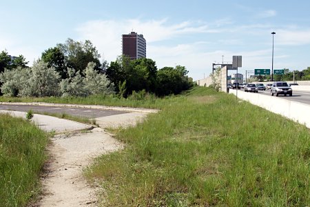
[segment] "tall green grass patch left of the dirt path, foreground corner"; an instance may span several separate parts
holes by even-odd
[[[47,142],[29,121],[0,114],[0,206],[25,206],[39,193]]]

